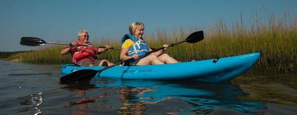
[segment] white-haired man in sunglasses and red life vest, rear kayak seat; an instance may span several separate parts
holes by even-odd
[[[107,51],[110,46],[105,45],[105,48],[76,46],[91,45],[89,42],[89,35],[87,30],[81,30],[78,32],[78,40],[71,42],[72,45],[64,47],[61,51],[61,55],[71,53],[72,62],[79,66],[111,66],[113,63],[103,59],[98,60],[96,54],[101,54]]]

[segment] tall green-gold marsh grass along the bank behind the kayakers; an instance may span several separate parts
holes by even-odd
[[[266,20],[254,16],[250,19],[250,24],[244,24],[242,19],[236,20],[230,27],[223,20],[218,20],[214,26],[204,29],[204,40],[198,43],[182,43],[168,48],[165,52],[177,60],[186,62],[260,51],[261,58],[251,72],[294,73],[297,71],[297,20],[291,19],[287,14],[286,12],[283,18],[276,18],[272,14]],[[201,29],[197,26],[187,29],[173,28],[171,32],[156,29],[153,33],[146,33],[144,38],[150,47],[159,48],[162,44],[184,40],[199,30]],[[97,45],[109,44],[112,47],[120,47],[121,37],[95,39],[97,40],[93,43]],[[62,47],[64,46],[48,46],[38,51],[15,54],[7,59],[22,56],[26,63],[71,63],[70,55],[60,55]],[[110,49],[98,57],[117,63],[119,54],[120,50]]]

